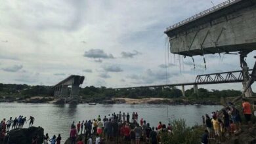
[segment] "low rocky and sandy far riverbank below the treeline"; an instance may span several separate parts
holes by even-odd
[[[0,99],[0,102],[16,103],[65,103],[64,99],[56,97],[36,96],[32,98]],[[168,105],[221,105],[216,99],[187,99],[187,98],[108,98],[108,99],[83,99],[77,100],[79,103],[100,103],[100,104],[168,104]]]

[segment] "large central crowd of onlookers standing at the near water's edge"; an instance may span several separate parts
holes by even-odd
[[[131,117],[129,113],[112,113],[104,118],[98,115],[93,120],[82,120],[72,122],[70,130],[71,144],[75,144],[75,139],[79,134],[85,134],[85,139],[80,139],[78,144],[87,142],[88,144],[99,144],[102,141],[112,141],[114,143],[136,143],[140,141],[156,144],[161,141],[160,133],[171,134],[171,124],[166,126],[159,122],[156,128],[146,123],[141,118],[138,120],[138,113],[133,112]],[[96,137],[93,141],[93,135]]]

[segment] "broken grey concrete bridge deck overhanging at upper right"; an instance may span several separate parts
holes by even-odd
[[[165,31],[171,53],[196,56],[255,50],[255,3],[255,0],[238,0],[223,9]]]

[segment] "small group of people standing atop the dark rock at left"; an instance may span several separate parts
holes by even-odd
[[[29,126],[33,126],[33,122],[35,121],[35,118],[30,116],[28,119],[30,121]],[[24,124],[27,123],[27,118],[20,115],[18,118],[15,117],[12,119],[12,117],[7,120],[6,118],[3,118],[0,123],[0,141],[3,141],[3,138],[9,132],[9,130],[13,130],[16,128],[23,128]]]

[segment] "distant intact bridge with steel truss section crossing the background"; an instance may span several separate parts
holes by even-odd
[[[248,71],[252,71],[249,69]],[[161,85],[151,85],[151,86],[134,86],[126,88],[114,88],[114,90],[130,90],[136,88],[165,88],[172,86],[182,86],[181,91],[182,95],[185,96],[184,86],[193,85],[194,93],[198,93],[198,85],[200,84],[223,84],[223,83],[234,83],[234,82],[244,82],[243,71],[226,71],[223,73],[210,73],[205,75],[196,76],[194,82],[185,82],[177,84],[161,84]]]

